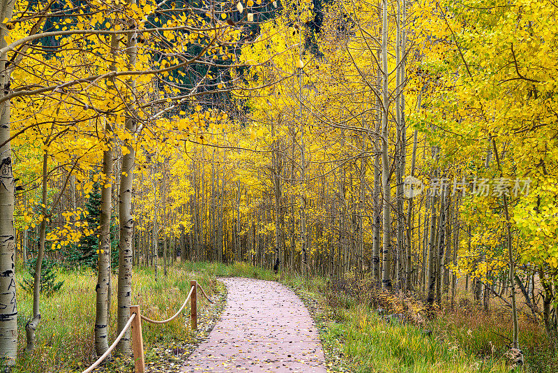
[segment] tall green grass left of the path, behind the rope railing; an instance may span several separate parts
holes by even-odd
[[[18,271],[21,273],[22,271]],[[36,332],[36,351],[24,352],[25,324],[31,318],[33,298],[22,290],[17,276],[18,302],[18,358],[14,372],[81,372],[96,360],[93,342],[95,322],[96,275],[91,270],[61,270],[64,281],[60,291],[41,297],[40,326]],[[133,270],[133,304],[140,305],[142,314],[151,319],[167,319],[183,304],[190,291],[190,280],[195,279],[211,295],[216,281],[207,274],[198,274],[184,268],[171,267],[167,277],[161,271],[155,279],[151,268]],[[110,341],[116,335],[116,276],[112,277]],[[205,307],[206,302],[198,302]],[[144,346],[147,351],[161,342],[185,340],[191,337],[190,311],[164,325],[144,323]]]

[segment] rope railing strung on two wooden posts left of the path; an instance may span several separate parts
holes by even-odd
[[[202,294],[207,300],[209,300],[209,302],[213,303],[213,300],[209,299],[209,297],[204,291],[204,288],[202,288],[202,286],[200,286],[197,283],[197,281],[190,281],[190,293],[188,293],[188,296],[186,297],[186,300],[184,301],[182,307],[180,307],[180,309],[178,310],[178,312],[176,312],[176,314],[174,314],[172,317],[166,320],[161,320],[161,321],[151,320],[148,317],[142,315],[142,313],[140,312],[139,305],[130,306],[130,319],[128,319],[128,323],[126,323],[126,326],[124,326],[124,328],[122,329],[118,337],[114,339],[114,342],[112,342],[111,346],[107,349],[107,351],[105,351],[105,353],[103,353],[103,355],[100,356],[96,360],[96,362],[93,363],[93,365],[91,365],[91,367],[87,368],[82,373],[91,373],[96,367],[98,367],[100,363],[103,362],[103,360],[105,360],[105,358],[107,358],[107,356],[110,356],[110,353],[112,352],[112,350],[114,350],[116,345],[119,344],[120,339],[122,339],[124,333],[126,333],[126,330],[128,330],[130,326],[132,328],[131,337],[132,337],[132,349],[134,353],[134,370],[135,373],[145,373],[142,320],[147,321],[148,323],[155,323],[155,324],[168,323],[169,321],[172,321],[176,319],[177,316],[179,316],[179,314],[182,312],[184,307],[186,307],[186,305],[188,304],[188,300],[190,300],[190,327],[192,328],[192,330],[196,330],[197,329],[197,291],[196,291],[197,288],[199,288],[199,290],[202,291]]]

